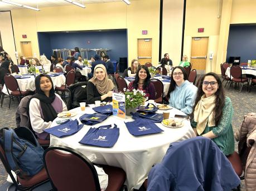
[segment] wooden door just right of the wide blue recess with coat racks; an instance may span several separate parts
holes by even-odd
[[[152,63],[152,38],[138,39],[138,63]]]

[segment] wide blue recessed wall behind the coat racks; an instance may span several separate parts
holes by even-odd
[[[90,43],[88,43],[90,41]],[[101,31],[101,32],[75,32],[75,33],[46,33],[38,32],[38,43],[40,54],[45,53],[47,57],[52,54],[52,49],[74,49],[79,48],[108,48],[111,60],[119,60],[119,57],[127,55],[127,31]],[[50,50],[50,52],[49,52]],[[88,52],[88,58],[95,54]]]

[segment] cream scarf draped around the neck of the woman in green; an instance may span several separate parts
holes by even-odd
[[[215,94],[210,97],[201,97],[200,101],[196,104],[194,111],[194,120],[197,122],[196,131],[200,135],[204,132],[208,122],[209,127],[215,126],[214,108],[215,108]]]

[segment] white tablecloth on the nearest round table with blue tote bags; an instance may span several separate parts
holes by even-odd
[[[91,108],[86,108],[85,112],[81,112],[80,108],[75,108],[73,111],[78,114],[72,119],[78,119],[84,113],[94,113],[94,110]],[[183,114],[177,109],[171,109],[170,112],[170,116]],[[56,118],[51,126],[54,127],[56,125],[55,121],[60,119],[63,118]],[[185,120],[181,128],[167,128],[161,123],[156,123],[164,132],[134,137],[128,132],[124,124],[124,122],[132,120],[131,117],[123,120],[111,115],[104,122],[93,125],[93,127],[99,127],[103,124],[117,124],[117,127],[120,129],[120,135],[117,143],[112,148],[93,147],[79,143],[88,132],[91,127],[90,125],[84,125],[78,133],[69,137],[57,138],[51,135],[51,145],[66,145],[78,150],[85,156],[95,154],[96,159],[93,161],[94,163],[122,168],[127,175],[126,184],[128,189],[138,189],[147,178],[152,165],[161,162],[170,143],[195,137],[195,133],[191,128],[189,120]]]

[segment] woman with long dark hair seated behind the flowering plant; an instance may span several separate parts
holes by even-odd
[[[154,84],[149,81],[150,78],[148,67],[145,65],[140,66],[137,70],[135,80],[129,83],[129,91],[138,89],[146,93],[145,97],[148,99],[156,99],[156,90],[154,89]]]

